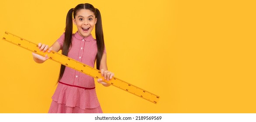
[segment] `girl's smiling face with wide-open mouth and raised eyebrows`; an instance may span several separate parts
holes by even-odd
[[[97,18],[95,18],[92,11],[88,9],[80,9],[77,11],[73,22],[77,27],[78,34],[82,37],[88,37],[97,22]]]

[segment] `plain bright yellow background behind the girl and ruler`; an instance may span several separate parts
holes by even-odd
[[[160,96],[96,84],[105,113],[256,113],[254,0],[1,0],[0,37],[51,45],[79,3],[102,14],[109,70]],[[3,40],[0,52],[0,113],[47,113],[60,64]]]

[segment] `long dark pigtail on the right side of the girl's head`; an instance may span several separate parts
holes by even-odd
[[[97,40],[97,69],[100,70],[100,61],[102,58],[102,55],[104,53],[104,36],[103,36],[103,29],[102,29],[102,21],[101,21],[101,15],[100,15],[100,10],[96,8],[96,18],[97,18],[97,23],[95,25],[95,35],[96,35],[96,40]]]

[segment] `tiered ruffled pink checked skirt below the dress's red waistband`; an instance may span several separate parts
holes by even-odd
[[[103,113],[96,90],[58,84],[48,113]]]

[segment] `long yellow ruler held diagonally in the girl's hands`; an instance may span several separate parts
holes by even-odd
[[[101,76],[101,73],[99,70],[95,69],[95,68],[92,68],[86,64],[83,64],[79,61],[76,61],[72,58],[69,58],[65,55],[62,55],[62,54],[59,54],[55,51],[52,51],[50,53],[48,53],[47,51],[44,53],[42,51],[39,51],[38,49],[38,44],[35,44],[33,42],[30,42],[28,40],[25,40],[24,38],[22,37],[18,37],[14,34],[11,34],[9,32],[5,32],[3,34],[3,40],[4,41],[7,41],[7,42],[10,42],[12,44],[15,44],[19,47],[22,47],[24,49],[27,49],[28,51],[31,51],[31,52],[34,52],[36,54],[39,54],[39,55],[42,55],[42,56],[45,56],[45,54],[48,55],[49,59],[53,60],[53,61],[56,61],[60,64],[63,64],[65,65],[66,67],[70,67],[70,68],[73,68],[77,71],[80,71],[86,75],[90,75],[91,77],[93,78],[102,78]],[[102,78],[104,80],[104,78]],[[125,82],[125,81],[122,81],[116,77],[113,77],[111,80],[107,81],[107,80],[104,80],[103,82],[107,83],[107,84],[110,84],[110,85],[113,85],[117,88],[120,88],[124,91],[127,91],[133,95],[136,95],[140,98],[144,98],[145,100],[148,100],[152,103],[157,103],[159,101],[159,96],[158,95],[155,95],[149,91],[146,91],[142,88],[138,88],[137,86],[135,85],[131,85],[130,83],[128,82]]]

